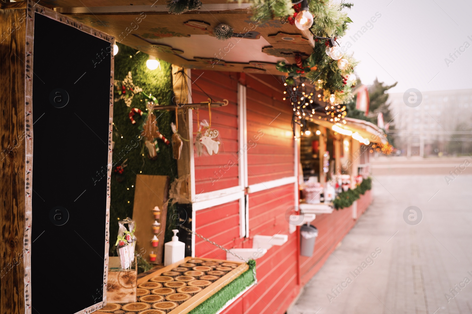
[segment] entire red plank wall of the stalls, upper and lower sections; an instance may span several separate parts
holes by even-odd
[[[202,74],[200,76],[200,74]],[[199,77],[200,76],[200,77]],[[237,82],[247,89],[247,141],[249,185],[293,177],[294,138],[291,126],[292,108],[282,100],[283,84],[271,75],[230,72],[192,71],[194,102],[206,100],[201,89],[217,101],[229,105],[212,110],[212,127],[219,129],[223,143],[214,156],[194,158],[196,194],[238,185],[238,109]],[[199,85],[196,86],[196,85]],[[201,89],[200,89],[201,88]],[[208,110],[200,110],[200,120],[208,119]],[[194,131],[197,130],[196,114]],[[212,185],[213,172],[235,162]],[[220,168],[221,167],[221,168]],[[226,167],[228,169],[228,167]],[[217,177],[215,177],[217,178]],[[312,225],[319,230],[312,257],[299,255],[299,231],[289,233],[286,212],[295,204],[295,186],[287,184],[249,193],[249,238],[239,236],[239,200],[196,211],[195,231],[226,248],[251,248],[253,236],[287,234],[288,241],[274,246],[257,259],[258,284],[225,309],[223,314],[284,314],[300,288],[320,269],[331,251],[354,226],[352,208],[317,215]],[[371,202],[368,191],[358,200],[358,216]],[[226,253],[213,245],[195,239],[195,256],[225,259]]]

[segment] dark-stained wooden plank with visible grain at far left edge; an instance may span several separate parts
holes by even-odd
[[[25,311],[24,235],[25,226],[29,225],[25,223],[26,138],[23,133],[26,42],[23,16],[26,9],[3,9],[13,5],[19,3],[2,3],[0,10],[0,241],[4,243],[0,246],[0,313],[20,314]],[[20,21],[22,23],[18,24]],[[26,123],[31,124],[31,121]]]

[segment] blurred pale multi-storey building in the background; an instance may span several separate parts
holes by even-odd
[[[415,108],[405,105],[403,93],[389,94],[395,117],[389,133],[395,137],[395,147],[408,157],[471,153],[472,89],[421,94],[421,104]]]

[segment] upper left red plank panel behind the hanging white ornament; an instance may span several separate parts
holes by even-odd
[[[195,154],[195,193],[207,193],[238,185],[238,122],[237,122],[237,75],[235,72],[192,70],[193,102],[228,99],[228,106],[211,109],[211,128],[218,129],[221,144],[219,153],[197,157]],[[200,121],[209,121],[208,109],[200,109]],[[197,113],[194,110],[194,132],[198,130]],[[195,134],[194,134],[195,136]],[[203,148],[206,151],[205,148]],[[230,162],[232,161],[232,162]],[[235,163],[232,166],[229,164]],[[216,173],[215,173],[216,172]]]

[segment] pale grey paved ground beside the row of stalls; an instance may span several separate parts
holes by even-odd
[[[472,313],[472,164],[449,185],[445,179],[464,159],[419,163],[429,168],[412,167],[414,160],[377,161],[371,207],[288,314]],[[416,174],[424,169],[432,174]],[[416,221],[408,212],[410,223],[421,210],[417,225],[405,222],[409,206],[419,208]],[[354,273],[358,266],[362,271]]]

